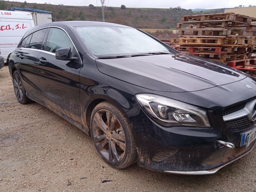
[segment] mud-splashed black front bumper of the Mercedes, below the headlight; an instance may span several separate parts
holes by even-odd
[[[247,154],[255,145],[238,147],[240,132],[214,128],[171,127],[156,124],[139,105],[127,112],[134,129],[138,164],[150,170],[176,174],[212,174]],[[234,143],[234,149],[217,140]]]

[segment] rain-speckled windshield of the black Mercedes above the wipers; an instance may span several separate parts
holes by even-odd
[[[135,28],[83,26],[76,30],[85,46],[97,57],[171,52],[167,46]]]

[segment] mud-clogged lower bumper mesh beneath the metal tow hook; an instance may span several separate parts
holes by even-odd
[[[239,155],[245,150],[245,146],[243,147],[238,147],[238,148],[227,148],[223,147],[212,153],[209,157],[204,159],[204,164],[217,164],[220,162],[225,162],[229,158],[232,158],[234,156]]]

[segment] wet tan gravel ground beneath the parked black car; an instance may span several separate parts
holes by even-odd
[[[204,176],[164,174],[137,164],[115,169],[97,154],[89,135],[40,104],[18,103],[8,66],[0,70],[0,191],[256,192],[255,157],[256,148]]]

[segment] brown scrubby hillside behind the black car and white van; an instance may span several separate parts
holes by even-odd
[[[51,11],[54,21],[87,20],[102,21],[101,7],[95,6],[65,6],[53,4],[37,4],[27,2],[0,1],[0,9],[11,7],[35,8]],[[182,15],[193,15],[191,9],[180,7],[170,9],[106,7],[105,21],[135,28],[175,28]]]

